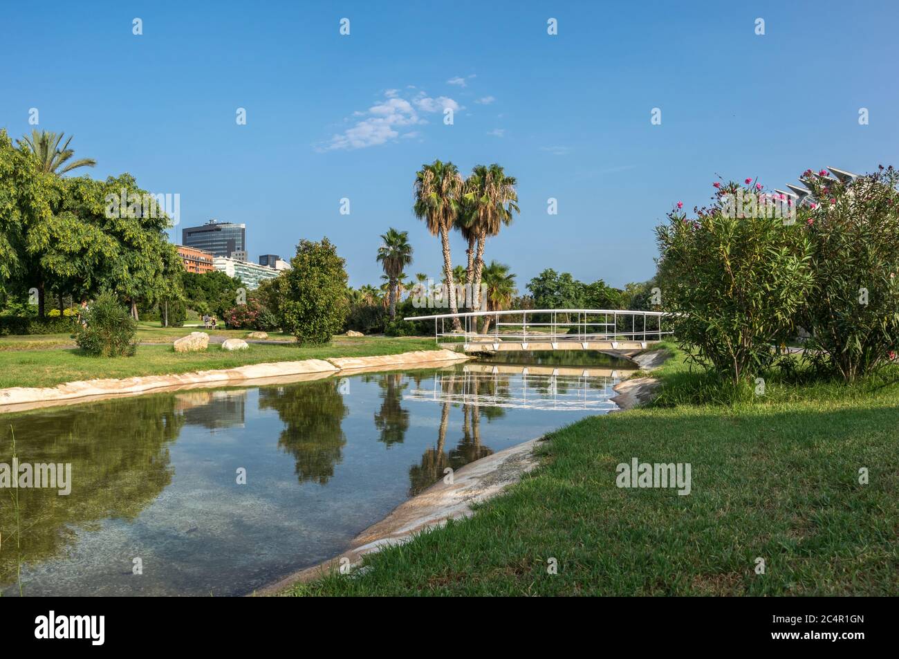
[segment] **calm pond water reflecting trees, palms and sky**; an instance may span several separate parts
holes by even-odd
[[[252,592],[339,555],[444,468],[614,408],[627,362],[578,357],[4,414],[0,463],[12,426],[19,464],[70,463],[72,486],[0,489],[0,592],[19,565],[26,595]]]

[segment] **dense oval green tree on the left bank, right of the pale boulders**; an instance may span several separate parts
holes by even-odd
[[[349,310],[345,261],[327,238],[300,240],[284,272],[280,310],[284,327],[298,343],[323,345],[343,327]]]

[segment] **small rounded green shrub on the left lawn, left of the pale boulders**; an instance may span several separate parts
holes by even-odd
[[[85,325],[78,325],[75,341],[94,357],[132,356],[138,349],[134,335],[138,324],[127,307],[110,291],[103,290],[84,315]]]

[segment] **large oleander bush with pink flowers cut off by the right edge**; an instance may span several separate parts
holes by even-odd
[[[852,381],[899,347],[899,172],[881,167],[844,184],[809,170],[803,180],[820,200],[806,219],[814,264],[806,356]]]

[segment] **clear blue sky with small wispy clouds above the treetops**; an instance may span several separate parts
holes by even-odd
[[[521,288],[547,267],[647,279],[653,227],[706,203],[717,174],[782,187],[899,165],[895,2],[40,2],[0,19],[13,137],[38,108],[92,176],[179,193],[182,226],[245,222],[254,260],[328,236],[355,286],[379,283],[387,227],[409,232],[407,272],[438,275],[411,211],[434,158],[518,178],[521,215],[485,257]]]

